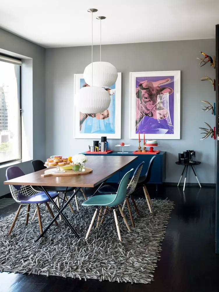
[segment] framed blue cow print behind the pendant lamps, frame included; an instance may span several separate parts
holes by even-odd
[[[74,95],[84,86],[88,85],[83,74],[74,74]],[[84,114],[74,106],[74,138],[100,139],[107,136],[107,139],[121,139],[121,73],[118,73],[116,83],[105,89],[111,102],[104,112]]]

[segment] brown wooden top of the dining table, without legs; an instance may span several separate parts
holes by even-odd
[[[45,169],[29,173],[4,182],[5,185],[38,185],[51,187],[95,187],[124,166],[130,164],[137,156],[89,156],[86,167],[92,173],[78,176],[47,176],[41,177]]]

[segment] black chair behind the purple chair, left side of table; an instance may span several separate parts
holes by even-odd
[[[34,171],[39,171],[39,170],[42,170],[42,169],[46,169],[47,167],[44,166],[44,162],[41,161],[41,160],[33,160],[31,161],[32,163],[32,166],[34,168]],[[45,187],[46,190],[49,190],[49,191],[55,191],[55,192],[59,192],[61,195],[63,193],[66,192],[66,187]],[[74,192],[74,187],[68,187],[67,189],[68,192]],[[81,188],[81,192],[84,196],[84,199],[87,200],[87,197],[86,197],[86,194],[84,193],[83,189]],[[67,201],[67,195],[65,196],[65,201]],[[77,200],[77,196],[75,196],[75,202],[76,202],[76,206],[77,206],[77,211],[79,211],[79,205],[78,205],[78,200]],[[72,213],[74,213],[74,210],[72,208],[72,205],[69,203],[69,208],[71,209]],[[60,206],[60,201],[59,201],[59,197],[57,197],[57,206],[59,207]],[[60,215],[60,219],[61,219],[61,215]]]

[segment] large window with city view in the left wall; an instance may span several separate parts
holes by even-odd
[[[21,61],[0,54],[0,164],[21,159],[20,76]]]

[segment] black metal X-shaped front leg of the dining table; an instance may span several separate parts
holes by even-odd
[[[55,222],[55,220],[58,218],[58,216],[61,214],[63,219],[65,220],[65,222],[67,223],[67,225],[69,226],[69,228],[72,230],[72,232],[74,233],[74,235],[77,237],[77,239],[80,239],[79,235],[77,234],[77,232],[74,230],[74,228],[72,227],[72,225],[69,223],[69,221],[67,220],[67,218],[65,217],[65,215],[62,213],[62,211],[68,206],[69,202],[74,198],[74,196],[77,194],[77,192],[80,190],[80,187],[77,187],[75,192],[72,194],[72,196],[68,199],[68,201],[66,202],[66,204],[59,209],[59,207],[55,204],[55,202],[53,201],[53,199],[51,198],[50,194],[47,192],[47,190],[42,186],[42,189],[44,190],[44,192],[46,193],[46,195],[48,196],[48,198],[50,199],[50,201],[52,202],[52,204],[55,206],[55,208],[58,211],[58,214],[55,215],[55,217],[53,218],[53,220],[49,223],[49,225],[46,227],[46,229],[43,231],[43,233],[41,233],[39,235],[39,237],[37,237],[37,239],[35,241],[38,241],[42,236],[44,236],[44,234],[46,233],[46,231],[51,227],[51,225]]]

